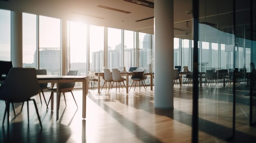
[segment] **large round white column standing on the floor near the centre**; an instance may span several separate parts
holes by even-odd
[[[173,108],[173,0],[155,0],[155,108]]]

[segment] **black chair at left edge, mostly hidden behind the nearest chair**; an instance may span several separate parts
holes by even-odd
[[[11,61],[0,61],[0,80],[5,80],[6,76],[8,75],[9,71],[12,68],[12,62]],[[5,102],[6,104],[6,102]],[[14,116],[16,117],[16,111],[14,103],[11,103],[13,108]],[[4,123],[4,122],[3,122]]]

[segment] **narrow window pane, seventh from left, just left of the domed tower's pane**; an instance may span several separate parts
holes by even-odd
[[[134,32],[124,31],[124,66],[126,70],[134,66]]]

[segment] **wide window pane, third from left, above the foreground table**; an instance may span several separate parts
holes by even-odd
[[[48,75],[61,74],[60,20],[39,16],[39,68]]]

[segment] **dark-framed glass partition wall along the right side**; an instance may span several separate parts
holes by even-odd
[[[249,141],[250,126],[256,123],[256,2],[197,2],[199,42],[193,55],[198,55],[205,85],[194,85],[198,88],[198,136],[193,137],[198,142],[222,142],[246,134],[243,140]]]

